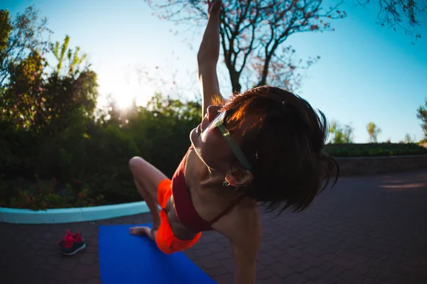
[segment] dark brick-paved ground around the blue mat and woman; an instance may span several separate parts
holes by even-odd
[[[342,178],[305,212],[263,214],[257,283],[427,283],[427,170]],[[97,226],[138,224],[147,214],[53,225],[0,224],[0,283],[100,283]],[[88,248],[56,251],[66,229]],[[206,233],[186,251],[218,283],[232,283],[227,241]]]

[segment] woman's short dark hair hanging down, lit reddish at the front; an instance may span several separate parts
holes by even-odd
[[[231,133],[244,129],[241,149],[254,180],[244,189],[268,211],[299,212],[339,176],[334,158],[323,153],[329,133],[322,111],[277,87],[256,87],[221,103]],[[243,125],[244,124],[244,125]],[[242,127],[243,126],[243,127]],[[233,160],[236,163],[236,160]]]

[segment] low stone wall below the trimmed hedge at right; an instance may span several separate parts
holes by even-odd
[[[396,155],[389,157],[335,158],[341,176],[372,175],[427,168],[427,155]]]

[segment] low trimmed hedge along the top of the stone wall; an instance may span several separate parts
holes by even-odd
[[[389,155],[426,155],[427,148],[416,143],[328,144],[325,152],[334,157],[374,157]]]

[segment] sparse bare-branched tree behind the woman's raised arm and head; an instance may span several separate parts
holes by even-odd
[[[206,23],[206,1],[175,0],[159,4],[145,0],[160,18],[176,24],[201,26]],[[285,88],[298,86],[300,70],[307,64],[289,62],[292,48],[283,43],[293,33],[331,31],[331,19],[344,18],[338,6],[322,8],[322,0],[230,0],[221,10],[221,48],[233,92],[241,92],[241,77],[251,78],[251,87],[283,82]],[[288,84],[287,84],[288,82]],[[295,84],[297,82],[298,84]]]

